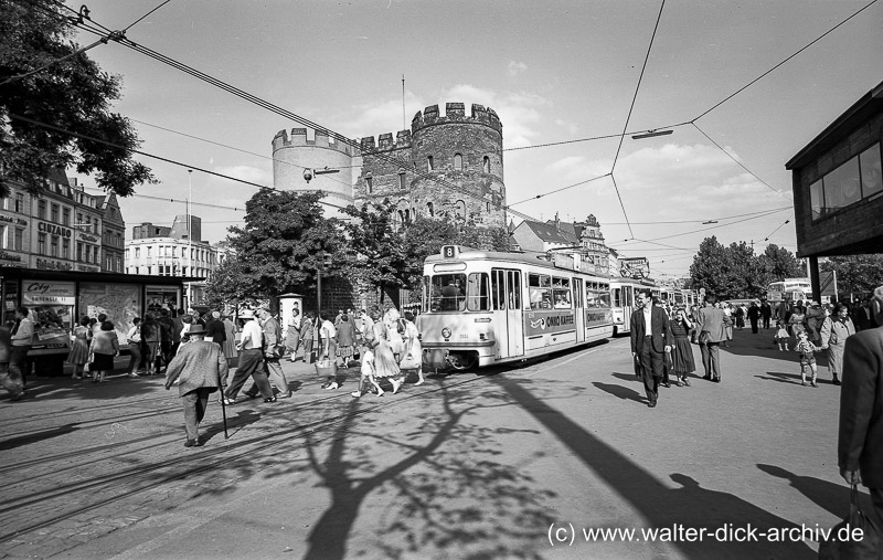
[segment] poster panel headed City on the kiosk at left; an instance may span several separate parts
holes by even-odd
[[[31,311],[34,338],[31,350],[65,350],[73,328],[76,286],[73,282],[24,279],[21,283],[21,304]]]

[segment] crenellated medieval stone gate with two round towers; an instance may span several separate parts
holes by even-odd
[[[448,103],[414,115],[411,130],[361,139],[361,150],[316,131],[295,128],[290,137],[280,130],[273,139],[273,176],[277,189],[328,192],[336,205],[362,204],[390,199],[402,222],[417,215],[461,216],[480,228],[506,226],[502,124],[497,113],[472,105],[469,116],[462,103]],[[309,184],[304,168],[340,169],[319,175]],[[361,166],[361,170],[360,170]],[[353,171],[355,169],[355,171]],[[353,176],[355,181],[353,182]]]

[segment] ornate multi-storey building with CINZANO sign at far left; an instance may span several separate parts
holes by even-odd
[[[104,212],[97,197],[73,183],[55,171],[39,194],[10,184],[0,203],[0,267],[102,272],[102,237],[95,232]]]

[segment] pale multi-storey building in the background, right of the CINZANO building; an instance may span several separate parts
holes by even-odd
[[[200,239],[200,218],[191,215],[189,222],[188,226],[188,216],[178,215],[171,228],[149,222],[134,226],[125,247],[126,274],[202,278],[185,284],[185,305],[196,305],[204,300],[205,283],[219,257],[217,250]]]

